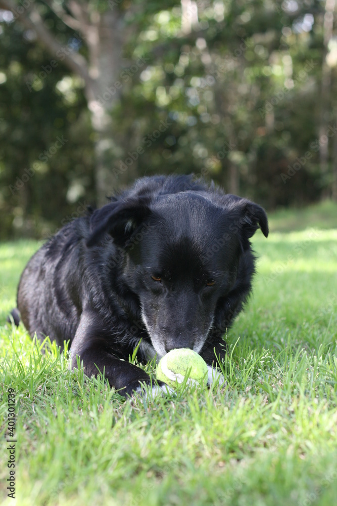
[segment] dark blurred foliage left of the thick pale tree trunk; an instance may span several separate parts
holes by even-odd
[[[72,31],[45,11],[64,47],[75,47]],[[0,24],[0,72],[0,239],[47,237],[94,201],[82,83],[16,23]]]

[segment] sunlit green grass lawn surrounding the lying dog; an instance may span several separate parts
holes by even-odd
[[[329,227],[322,226],[326,213]],[[331,506],[337,495],[337,207],[271,216],[254,295],[230,330],[227,385],[123,401],[5,325],[36,242],[0,247],[0,467],[16,392],[20,506]],[[310,225],[308,227],[308,225]],[[147,366],[151,369],[151,365]]]

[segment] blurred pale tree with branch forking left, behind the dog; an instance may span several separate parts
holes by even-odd
[[[16,20],[33,31],[41,44],[53,56],[45,72],[52,72],[61,60],[72,72],[84,81],[84,93],[91,114],[95,136],[95,178],[99,200],[106,196],[109,186],[111,157],[118,153],[117,138],[112,136],[111,116],[114,103],[119,99],[122,82],[120,72],[121,53],[124,41],[128,39],[130,27],[126,17],[115,7],[118,0],[103,2],[30,2],[23,4],[14,0],[1,0],[0,7],[12,12]],[[57,30],[45,23],[45,6],[60,22],[74,30],[77,46],[69,47],[59,41]],[[129,6],[129,9],[132,9]],[[137,10],[137,6],[133,6]],[[78,48],[85,43],[85,54]],[[113,83],[113,84],[112,84]],[[32,83],[33,84],[33,83]],[[115,132],[117,134],[117,130]]]

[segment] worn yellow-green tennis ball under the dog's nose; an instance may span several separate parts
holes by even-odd
[[[198,353],[189,348],[177,348],[169,351],[159,361],[157,367],[157,379],[172,387],[184,381],[188,372],[187,384],[207,386],[208,367]]]

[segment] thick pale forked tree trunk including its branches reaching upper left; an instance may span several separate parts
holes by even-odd
[[[33,30],[53,57],[62,54],[64,64],[84,80],[85,96],[95,133],[97,200],[98,204],[105,203],[107,195],[128,183],[136,174],[135,160],[132,160],[127,170],[120,169],[124,154],[121,149],[122,139],[119,138],[118,126],[112,121],[112,112],[119,103],[122,86],[130,79],[127,74],[123,75],[122,50],[124,41],[129,39],[129,30],[134,27],[126,27],[123,14],[117,9],[107,7],[106,12],[100,13],[96,8],[92,9],[90,2],[78,3],[71,0],[67,2],[67,10],[62,3],[50,5],[62,22],[81,33],[85,39],[89,53],[87,61],[76,51],[64,51],[57,37],[46,28],[34,5],[23,8],[14,0],[0,0],[0,8],[11,11],[18,22]],[[116,163],[117,170],[114,170]]]

